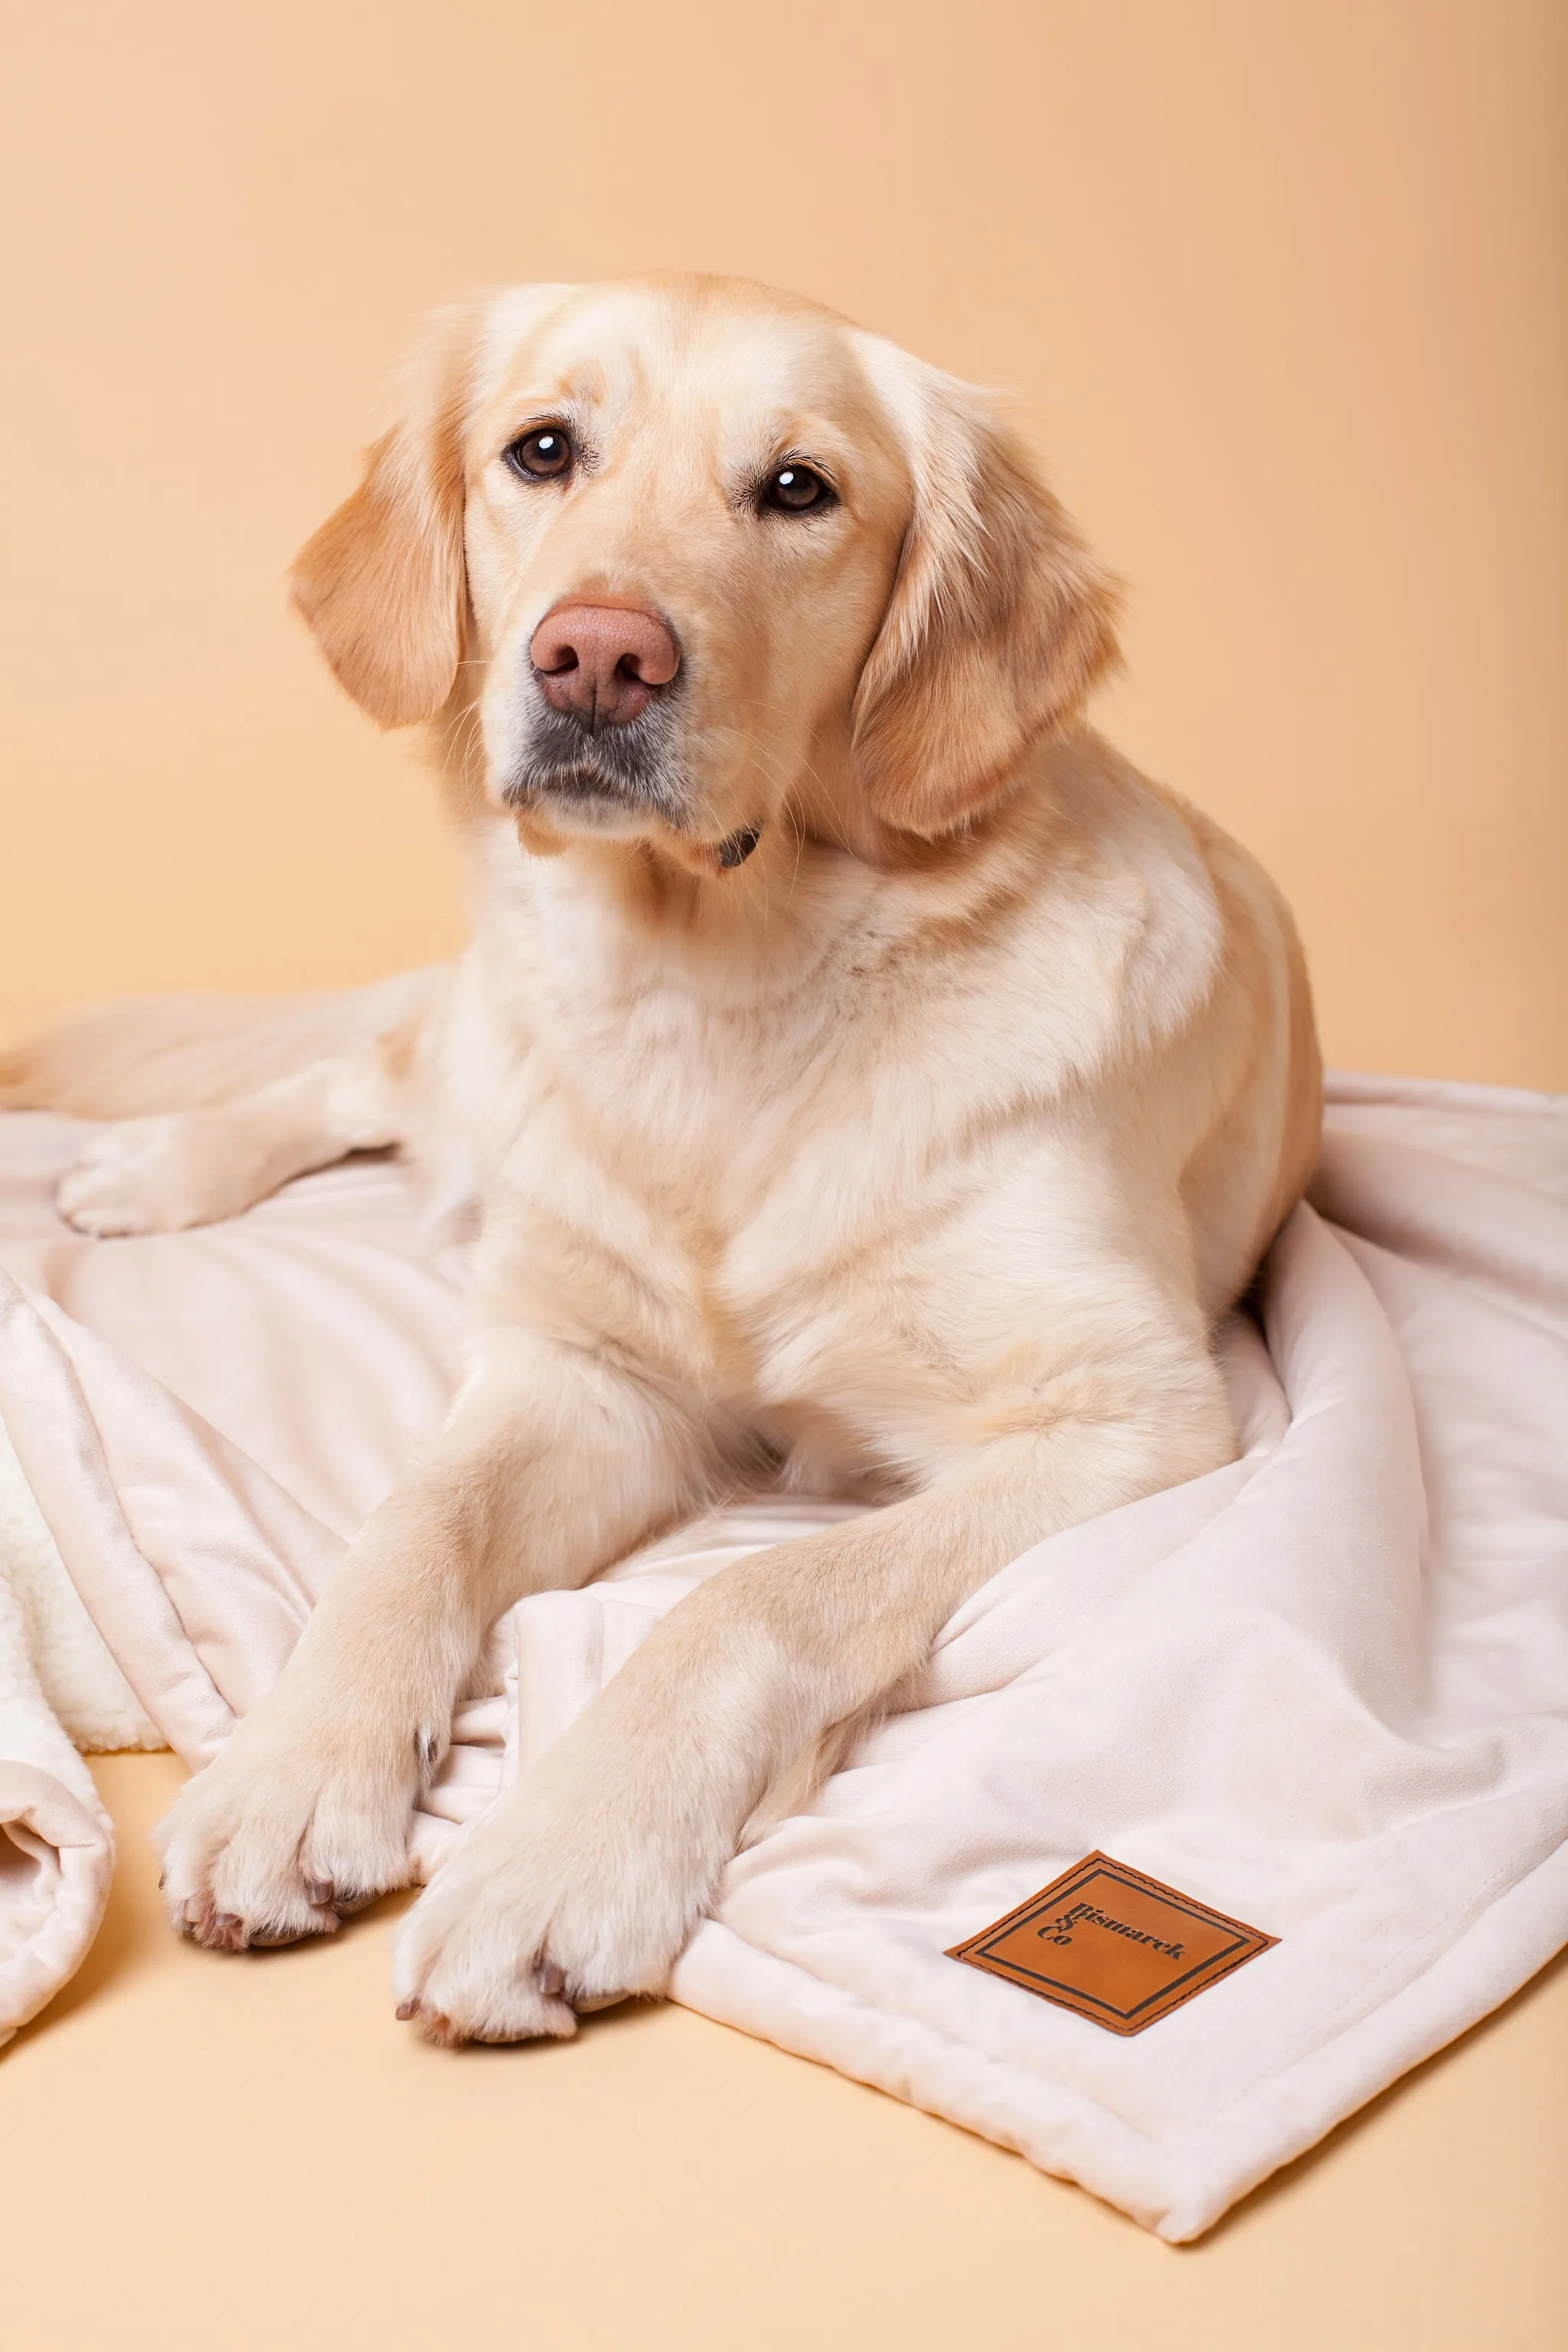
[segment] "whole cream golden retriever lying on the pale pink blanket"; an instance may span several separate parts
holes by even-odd
[[[388,1145],[477,1209],[451,1416],[165,1823],[176,1926],[404,1884],[520,1595],[769,1482],[879,1503],[682,1599],[402,1924],[428,2034],[569,2034],[985,1578],[1234,1456],[1213,1334],[1316,1152],[1307,983],[1251,856],[1086,729],[1114,595],[1020,442],[809,301],[442,313],[294,600],[430,727],[473,946],[85,1014],[5,1087],[125,1120],[85,1232]]]

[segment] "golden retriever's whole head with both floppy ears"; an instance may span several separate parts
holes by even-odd
[[[950,833],[1114,652],[1105,574],[978,393],[703,278],[442,313],[294,597],[383,724],[477,708],[524,840],[710,873],[788,804]]]

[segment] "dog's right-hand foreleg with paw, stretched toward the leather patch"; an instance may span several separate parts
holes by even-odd
[[[1215,1468],[1192,1392],[980,1446],[924,1494],[759,1552],[682,1599],[475,1830],[402,1929],[404,2013],[440,2039],[569,2032],[654,1992],[769,1785],[924,1663],[952,1611],[1056,1529]]]

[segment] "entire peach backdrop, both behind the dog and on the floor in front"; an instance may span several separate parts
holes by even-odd
[[[14,7],[0,1025],[456,943],[280,576],[421,308],[677,263],[1020,393],[1133,583],[1105,724],[1272,863],[1333,1058],[1566,1084],[1566,52],[1556,0]],[[0,2058],[7,2352],[1568,2333],[1561,1964],[1173,2253],[684,2011],[421,2051],[381,1915],[179,1947],[176,1778],[103,1766],[115,1910]]]

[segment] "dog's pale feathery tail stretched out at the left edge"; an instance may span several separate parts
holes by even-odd
[[[292,997],[120,997],[66,1014],[0,1049],[0,1108],[129,1120],[207,1110],[329,1054],[386,1044],[411,1058],[449,967],[400,971],[369,988]]]

